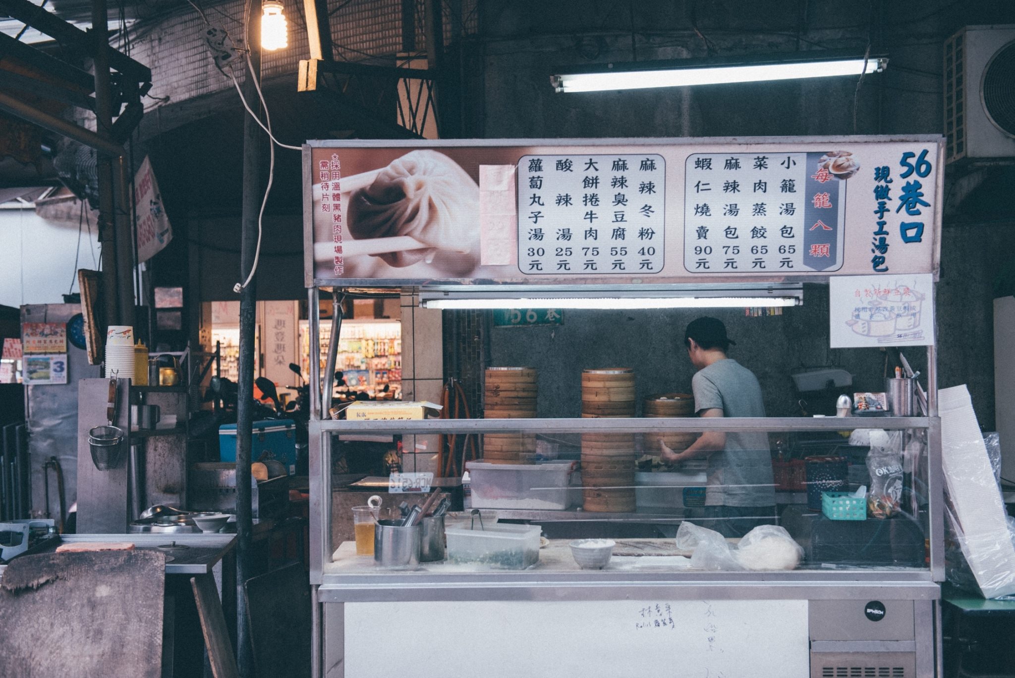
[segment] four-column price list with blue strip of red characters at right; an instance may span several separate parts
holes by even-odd
[[[835,152],[695,153],[684,184],[692,273],[832,271],[842,266],[847,180]]]

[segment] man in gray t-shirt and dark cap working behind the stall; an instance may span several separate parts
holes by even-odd
[[[731,344],[726,325],[702,317],[687,325],[687,355],[698,372],[691,380],[699,417],[764,417],[757,377],[726,353]],[[682,452],[663,443],[668,464],[708,458],[703,527],[727,537],[743,537],[751,529],[773,522],[775,487],[766,433],[707,431]]]

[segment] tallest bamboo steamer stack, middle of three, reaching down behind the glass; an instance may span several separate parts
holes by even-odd
[[[634,370],[613,368],[582,372],[582,416],[634,416]],[[637,450],[629,433],[582,435],[582,485],[587,511],[634,510],[634,460]]]

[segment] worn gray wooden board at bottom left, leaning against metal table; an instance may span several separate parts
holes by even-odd
[[[43,553],[0,582],[0,677],[158,678],[165,556]]]

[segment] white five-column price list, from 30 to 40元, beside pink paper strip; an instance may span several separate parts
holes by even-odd
[[[523,156],[518,265],[529,275],[663,269],[662,156]]]

